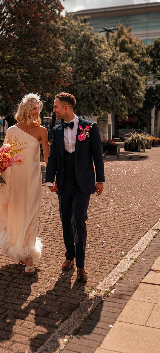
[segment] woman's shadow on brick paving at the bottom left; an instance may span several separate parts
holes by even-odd
[[[37,281],[37,271],[30,277],[22,265],[8,264],[0,268],[0,343],[25,330],[25,306],[28,304],[31,286]]]

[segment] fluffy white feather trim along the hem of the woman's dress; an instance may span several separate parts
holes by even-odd
[[[23,248],[17,248],[14,245],[11,246],[9,240],[10,237],[0,222],[0,246],[2,255],[9,256],[16,263],[19,261],[25,262],[27,257],[30,257],[33,262],[37,262],[41,257],[43,244],[39,237],[36,238],[35,244],[28,244]]]

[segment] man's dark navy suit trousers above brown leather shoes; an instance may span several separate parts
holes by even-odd
[[[75,176],[64,178],[63,189],[58,195],[63,238],[66,247],[66,260],[76,257],[76,266],[84,267],[87,239],[87,209],[90,195],[84,195]]]

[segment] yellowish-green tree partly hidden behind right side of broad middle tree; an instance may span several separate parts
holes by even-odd
[[[136,78],[132,80],[132,86],[130,86],[131,100],[128,100],[128,113],[135,113],[138,108],[141,108],[144,101],[145,94],[145,84],[147,83],[148,73],[150,69],[150,62],[152,61],[147,53],[146,47],[142,40],[134,36],[132,33],[132,27],[125,28],[123,24],[117,26],[117,30],[109,38],[109,47],[117,49],[120,53],[125,53],[133,64],[136,64],[136,70],[131,69],[134,77],[134,71],[136,73]],[[127,68],[126,68],[127,70]],[[138,82],[139,80],[139,82]],[[127,83],[127,78],[126,78]],[[136,94],[136,85],[137,85],[137,94]],[[129,88],[129,86],[128,86]],[[134,90],[134,91],[133,91]],[[126,99],[128,94],[126,94]],[[132,100],[134,98],[134,101]],[[126,115],[126,120],[128,119]],[[122,120],[120,116],[115,111],[115,134],[118,136],[119,123],[118,120]]]

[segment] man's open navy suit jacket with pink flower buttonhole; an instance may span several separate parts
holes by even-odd
[[[86,137],[83,141],[78,140],[78,135],[82,132],[79,125],[85,128],[90,124],[91,121],[79,118],[75,146],[76,180],[81,191],[85,195],[95,193],[95,173],[97,183],[103,183],[105,181],[102,140],[97,124],[94,123],[92,125],[92,128],[89,131],[89,137]],[[64,129],[62,129],[61,124],[59,124],[53,128],[51,153],[46,168],[46,183],[47,181],[53,183],[56,175],[59,194],[62,190],[64,180],[64,155]],[[95,173],[93,161],[95,165]]]

